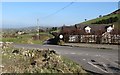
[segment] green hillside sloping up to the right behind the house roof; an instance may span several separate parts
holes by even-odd
[[[115,28],[120,28],[119,25],[119,14],[120,13],[120,9],[108,14],[108,15],[104,15],[104,16],[99,16],[99,18],[95,18],[92,20],[88,20],[85,22],[82,22],[80,24],[114,24]]]

